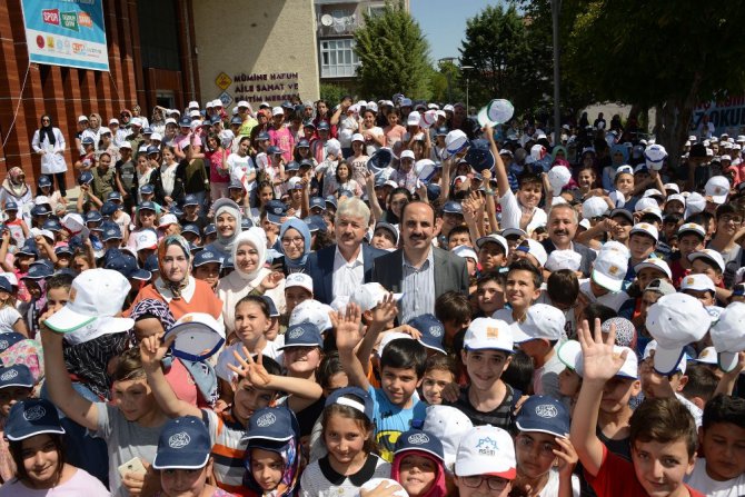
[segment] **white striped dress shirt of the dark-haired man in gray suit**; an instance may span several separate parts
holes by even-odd
[[[435,314],[435,256],[429,249],[429,255],[424,264],[416,268],[406,260],[404,252],[404,269],[401,279],[401,291],[399,320],[408,322],[423,314]]]

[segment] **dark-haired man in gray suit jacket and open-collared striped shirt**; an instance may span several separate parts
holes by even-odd
[[[429,203],[409,202],[401,212],[399,229],[404,248],[376,258],[371,278],[395,294],[404,294],[399,322],[434,314],[435,300],[446,291],[468,295],[466,259],[431,245],[435,210]]]

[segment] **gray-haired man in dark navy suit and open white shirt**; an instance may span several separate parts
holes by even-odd
[[[348,297],[371,281],[372,261],[388,252],[362,242],[369,219],[369,208],[358,198],[339,205],[334,220],[336,245],[311,252],[306,262],[316,300],[331,304],[336,297]]]

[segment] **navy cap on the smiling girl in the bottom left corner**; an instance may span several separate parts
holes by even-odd
[[[52,402],[47,399],[26,399],[10,408],[6,438],[18,441],[42,434],[64,434]]]

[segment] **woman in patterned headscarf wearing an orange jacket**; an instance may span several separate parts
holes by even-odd
[[[205,281],[191,276],[189,242],[180,235],[169,235],[158,243],[159,277],[142,288],[130,310],[143,299],[168,304],[175,319],[189,312],[205,312],[222,322],[222,302]]]

